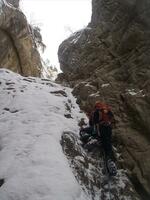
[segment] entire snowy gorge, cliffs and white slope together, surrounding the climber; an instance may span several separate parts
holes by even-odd
[[[0,0],[0,200],[149,200],[150,1],[92,0],[91,22],[58,51],[56,81],[73,90],[34,78],[45,69],[19,2]],[[117,122],[111,180],[100,142],[89,152],[78,134],[76,102],[97,100]]]

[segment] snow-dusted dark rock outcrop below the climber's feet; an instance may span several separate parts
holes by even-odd
[[[108,177],[99,145],[94,145],[91,151],[87,151],[74,133],[64,132],[62,146],[76,179],[90,199],[140,199],[125,170],[118,169],[115,177]]]

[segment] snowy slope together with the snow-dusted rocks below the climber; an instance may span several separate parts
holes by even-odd
[[[0,69],[0,97],[0,200],[140,199],[125,170],[108,182],[101,150],[82,148],[70,88]]]

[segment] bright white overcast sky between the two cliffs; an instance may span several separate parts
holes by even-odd
[[[47,46],[43,57],[56,66],[58,46],[71,34],[69,28],[82,29],[91,19],[91,0],[21,0],[21,9],[29,23],[40,26]]]

